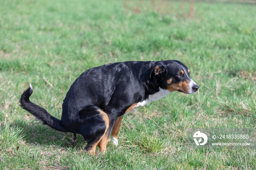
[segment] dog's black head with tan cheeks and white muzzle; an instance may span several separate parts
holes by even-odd
[[[170,92],[195,93],[199,86],[190,78],[190,70],[177,60],[161,61],[153,67],[150,80]]]

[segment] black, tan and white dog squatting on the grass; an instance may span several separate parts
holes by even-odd
[[[85,150],[95,154],[96,146],[106,151],[109,136],[118,144],[117,134],[124,115],[178,91],[195,93],[199,86],[190,78],[182,62],[126,61],[93,67],[71,85],[62,105],[61,120],[29,100],[29,88],[20,97],[20,106],[43,124],[62,132],[72,132],[87,141]]]

